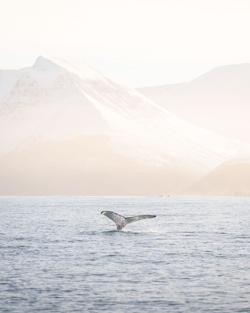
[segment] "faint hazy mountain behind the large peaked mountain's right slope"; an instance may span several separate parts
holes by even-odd
[[[220,66],[190,82],[138,88],[185,121],[250,142],[250,64]]]

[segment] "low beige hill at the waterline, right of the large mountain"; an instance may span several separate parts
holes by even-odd
[[[206,174],[184,195],[250,196],[250,158],[230,160]]]

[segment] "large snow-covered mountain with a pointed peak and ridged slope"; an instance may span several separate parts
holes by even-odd
[[[88,64],[40,56],[0,71],[0,154],[1,194],[159,194],[250,156],[250,144],[193,126]]]

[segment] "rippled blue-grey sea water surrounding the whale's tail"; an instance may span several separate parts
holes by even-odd
[[[0,197],[0,311],[250,312],[250,197]]]

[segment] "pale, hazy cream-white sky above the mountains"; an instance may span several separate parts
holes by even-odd
[[[81,60],[133,86],[250,62],[250,0],[0,1],[0,68]]]

